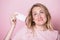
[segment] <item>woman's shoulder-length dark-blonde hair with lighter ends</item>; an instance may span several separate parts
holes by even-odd
[[[25,23],[26,23],[27,27],[29,29],[33,29],[34,28],[35,22],[33,21],[33,16],[32,16],[32,9],[34,7],[42,7],[44,9],[45,14],[46,14],[46,18],[47,18],[46,28],[50,29],[50,30],[53,30],[53,27],[52,27],[51,22],[50,22],[51,21],[51,15],[50,15],[48,9],[44,5],[42,5],[40,3],[34,4],[32,6],[32,8],[30,9],[29,14],[28,14],[28,16],[26,17],[26,20],[25,20]]]

